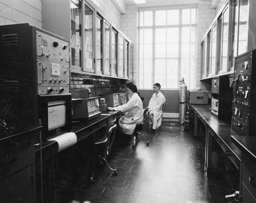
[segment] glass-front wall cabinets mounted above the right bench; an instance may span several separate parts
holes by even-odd
[[[201,43],[201,79],[232,74],[235,57],[256,47],[255,10],[255,0],[233,0],[216,15]]]

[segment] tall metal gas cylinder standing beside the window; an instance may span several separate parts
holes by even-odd
[[[186,105],[187,105],[187,85],[184,82],[184,78],[180,80],[180,106],[179,106],[179,112],[180,112],[180,124],[183,124],[183,118],[186,115]]]

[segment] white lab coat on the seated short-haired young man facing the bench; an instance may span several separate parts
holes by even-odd
[[[158,94],[154,93],[149,101],[148,107],[152,108],[150,111],[153,116],[148,118],[148,123],[153,123],[153,129],[157,129],[161,125],[162,105],[165,102],[165,97],[161,91]]]

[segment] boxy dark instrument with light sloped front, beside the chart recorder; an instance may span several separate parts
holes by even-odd
[[[72,99],[72,119],[91,120],[101,113],[100,97]]]

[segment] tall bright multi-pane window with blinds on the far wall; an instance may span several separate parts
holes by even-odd
[[[139,11],[139,88],[195,88],[196,8]]]

